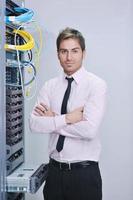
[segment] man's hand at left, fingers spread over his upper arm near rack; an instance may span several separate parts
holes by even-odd
[[[46,117],[53,117],[55,116],[55,113],[44,103],[38,104],[34,108],[34,114],[37,116],[46,116]]]

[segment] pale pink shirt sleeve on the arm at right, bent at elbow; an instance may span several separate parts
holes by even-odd
[[[96,137],[105,112],[106,91],[107,85],[104,81],[97,83],[84,105],[83,118],[85,121],[67,125],[60,129],[59,134],[88,140]]]

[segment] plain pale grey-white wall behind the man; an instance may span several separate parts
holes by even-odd
[[[55,39],[64,27],[79,29],[86,38],[85,67],[108,84],[106,117],[101,127],[103,200],[132,200],[132,39],[131,0],[26,0],[43,31],[38,89],[60,71]],[[28,116],[36,98],[26,102],[26,162],[48,160],[48,135],[31,134]],[[42,200],[42,191],[27,195]]]

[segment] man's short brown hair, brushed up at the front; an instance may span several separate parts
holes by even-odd
[[[77,39],[80,46],[81,46],[82,51],[85,50],[85,39],[82,36],[81,32],[79,32],[76,29],[67,27],[64,30],[62,30],[57,37],[57,40],[56,40],[57,51],[59,51],[60,43],[63,40],[66,40],[66,39],[69,39],[69,38]]]

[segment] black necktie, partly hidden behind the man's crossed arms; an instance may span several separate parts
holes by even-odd
[[[71,91],[71,83],[74,80],[73,78],[67,78],[67,77],[66,77],[66,79],[68,80],[68,86],[67,86],[67,89],[65,91],[64,98],[62,101],[61,114],[67,113],[67,102],[68,102],[68,98],[69,98],[70,91]],[[59,135],[57,145],[56,145],[56,149],[58,152],[60,152],[63,149],[64,140],[65,140],[65,136]]]

